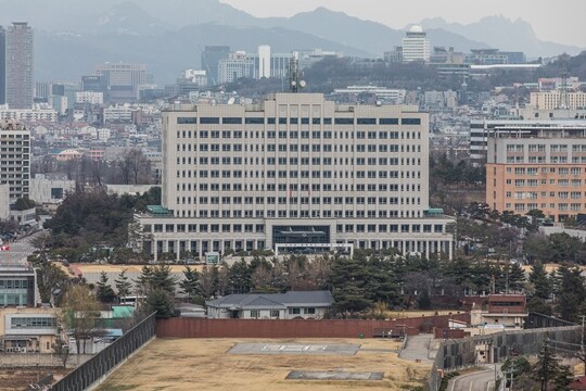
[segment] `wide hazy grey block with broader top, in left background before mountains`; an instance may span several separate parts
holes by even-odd
[[[105,78],[107,96],[104,100],[112,103],[136,102],[140,86],[146,83],[146,65],[105,63],[95,67],[95,75]]]

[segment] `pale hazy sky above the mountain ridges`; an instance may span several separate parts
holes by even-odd
[[[586,0],[221,0],[255,16],[291,16],[326,7],[403,28],[425,17],[469,24],[504,15],[528,22],[542,40],[586,48]]]

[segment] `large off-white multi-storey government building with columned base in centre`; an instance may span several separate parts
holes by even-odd
[[[136,215],[137,244],[155,260],[334,243],[451,257],[453,219],[429,209],[429,117],[417,106],[276,93],[175,104],[163,127],[162,205]]]

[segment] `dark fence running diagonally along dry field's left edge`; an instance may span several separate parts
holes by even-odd
[[[155,314],[132,327],[128,332],[114,341],[99,354],[75,368],[63,379],[53,384],[51,390],[82,391],[103,379],[130,354],[155,338]]]

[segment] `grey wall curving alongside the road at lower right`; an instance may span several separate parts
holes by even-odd
[[[461,340],[446,340],[440,344],[428,381],[430,391],[437,391],[446,371],[466,368],[477,364],[476,345],[491,346],[492,362],[499,362],[511,352],[522,355],[539,353],[546,340],[577,344],[581,341],[582,327],[566,326],[542,329],[500,331],[492,335],[475,336]]]

